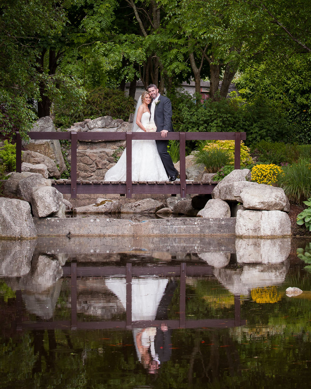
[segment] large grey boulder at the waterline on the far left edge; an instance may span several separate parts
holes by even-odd
[[[30,205],[15,198],[0,198],[0,237],[2,239],[37,238]]]

